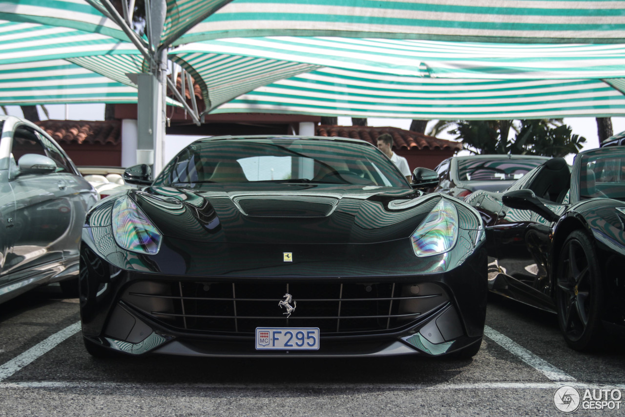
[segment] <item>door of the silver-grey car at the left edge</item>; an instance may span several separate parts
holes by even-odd
[[[19,166],[21,157],[36,154],[51,157],[57,168],[51,173],[9,169],[8,185],[15,198],[15,209],[12,250],[4,263],[5,281],[46,279],[63,269],[64,252],[70,250],[68,234],[76,224],[71,175],[76,174],[56,160],[47,146],[44,136],[32,126],[21,123],[12,126],[10,163]],[[71,239],[74,239],[71,245],[77,245],[78,237]]]

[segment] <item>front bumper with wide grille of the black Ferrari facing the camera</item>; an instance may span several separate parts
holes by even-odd
[[[89,245],[83,244],[80,282],[83,336],[103,347],[128,354],[307,358],[399,354],[439,356],[479,343],[486,317],[486,252],[483,245],[461,265],[433,274],[259,277],[252,280],[249,277],[146,274],[119,269],[96,254]],[[249,294],[257,290],[246,294],[240,288],[252,283],[261,287],[277,286],[276,298],[269,300],[260,294],[250,301]],[[234,294],[197,296],[202,286],[215,284],[217,287],[232,287]],[[371,317],[354,319],[354,316],[362,316],[356,307],[351,313],[342,307],[342,312],[339,310],[335,314],[316,306],[311,309],[314,313],[306,313],[307,302],[315,299],[307,296],[307,299],[299,298],[297,314],[285,319],[277,307],[284,294],[282,289],[304,297],[314,286],[337,287],[341,294],[351,294],[351,299],[340,299],[341,296],[317,299],[321,304],[345,306],[347,302],[361,300],[366,304],[363,308],[375,305],[375,312],[369,314]],[[421,288],[421,298],[419,294],[413,297],[407,293],[415,286]],[[366,292],[367,287],[372,287],[372,291],[379,295],[367,299],[354,292],[354,288]],[[390,295],[384,293],[389,287],[393,288]],[[189,288],[193,289],[191,295]],[[241,295],[234,300],[236,293]],[[235,301],[241,303],[237,311],[231,307],[209,311],[210,306]],[[243,301],[257,303],[249,311],[259,311],[262,317],[249,316],[249,311],[245,312],[242,307]],[[184,307],[190,306],[190,302],[196,304],[193,311]],[[351,325],[345,324],[350,320]],[[223,324],[224,321],[234,322],[235,327]],[[290,327],[319,327],[319,350],[256,351],[254,327],[278,327],[279,323]]]

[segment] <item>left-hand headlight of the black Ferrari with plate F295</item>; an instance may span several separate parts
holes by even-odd
[[[130,197],[119,198],[113,206],[115,241],[124,249],[154,255],[162,235]]]

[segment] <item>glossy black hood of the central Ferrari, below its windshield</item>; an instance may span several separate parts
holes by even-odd
[[[410,189],[256,184],[154,187],[132,198],[161,234],[197,242],[367,244],[409,237],[441,198]]]

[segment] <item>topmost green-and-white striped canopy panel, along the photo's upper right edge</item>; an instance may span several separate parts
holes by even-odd
[[[233,0],[175,44],[282,35],[624,43],[624,10],[603,0]]]

